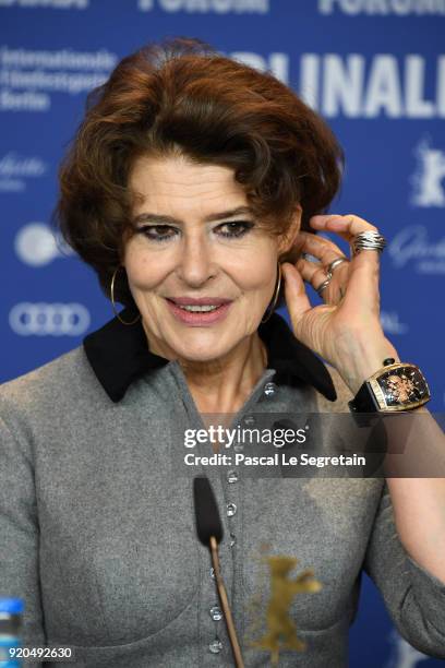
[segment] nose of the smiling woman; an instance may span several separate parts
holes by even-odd
[[[177,274],[191,287],[200,287],[215,276],[216,266],[204,236],[190,236],[179,249]]]

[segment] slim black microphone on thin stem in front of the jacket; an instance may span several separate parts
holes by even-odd
[[[241,647],[238,642],[233,618],[227,598],[226,587],[224,586],[219,568],[218,544],[222,540],[222,524],[219,517],[218,506],[215,494],[208,478],[197,476],[193,480],[193,499],[196,520],[196,533],[200,541],[211,550],[212,563],[215,573],[216,586],[218,589],[219,601],[226,620],[227,633],[229,635],[237,668],[244,668]]]

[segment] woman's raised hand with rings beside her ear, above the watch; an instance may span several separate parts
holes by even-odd
[[[378,231],[356,215],[317,215],[310,224],[313,229],[339,235],[351,248],[359,232]],[[300,258],[296,264],[281,265],[293,332],[332,363],[356,393],[385,358],[398,360],[380,321],[380,252],[361,250],[348,259],[333,241],[304,231],[298,242],[303,253],[318,262]],[[333,266],[337,259],[344,261]],[[311,305],[304,281],[320,290],[324,303]]]

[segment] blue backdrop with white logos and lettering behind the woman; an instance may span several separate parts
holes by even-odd
[[[332,211],[388,238],[383,325],[443,411],[444,27],[445,0],[0,0],[0,381],[112,317],[51,235],[57,167],[87,91],[136,47],[185,35],[272,70],[329,122],[347,157]],[[443,665],[397,635],[368,578],[350,649],[352,667]]]

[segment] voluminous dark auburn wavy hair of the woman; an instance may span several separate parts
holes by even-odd
[[[53,216],[107,297],[123,239],[134,232],[128,176],[141,155],[184,155],[232,168],[253,214],[277,235],[289,229],[298,204],[309,229],[310,217],[336,195],[344,166],[325,121],[272,73],[197,38],[141,48],[88,95],[60,168]],[[134,306],[125,272],[118,273],[115,296]]]

